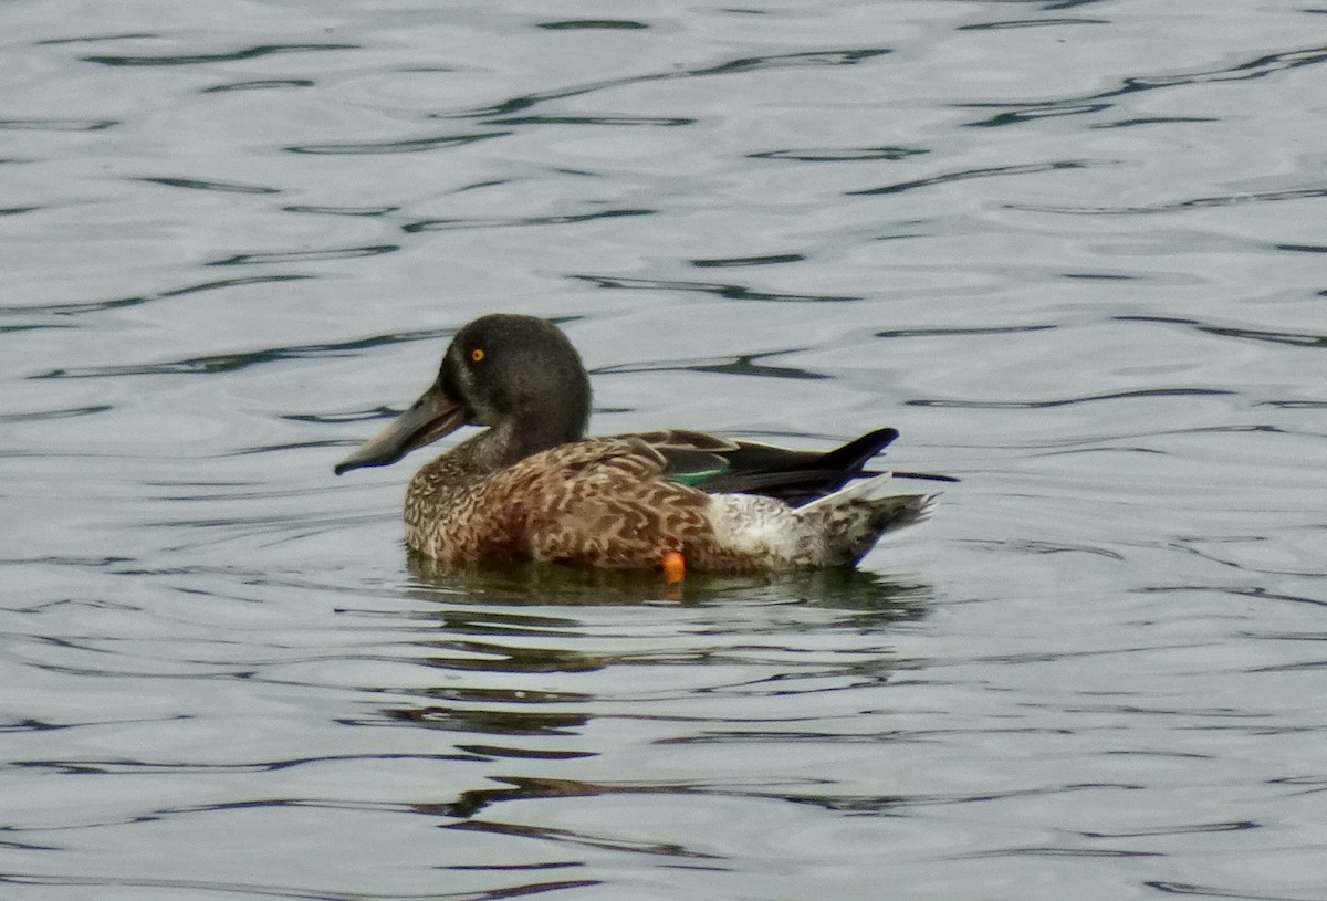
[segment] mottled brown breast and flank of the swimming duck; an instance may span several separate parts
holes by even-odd
[[[681,551],[695,569],[751,569],[714,547],[710,498],[664,480],[636,438],[563,445],[496,472],[464,446],[425,466],[406,495],[406,541],[447,565],[556,560],[641,569]]]

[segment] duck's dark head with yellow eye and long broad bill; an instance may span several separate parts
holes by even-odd
[[[514,463],[583,438],[589,398],[585,366],[561,329],[533,316],[484,316],[451,340],[429,390],[336,472],[395,463],[464,425],[488,426],[494,452]]]

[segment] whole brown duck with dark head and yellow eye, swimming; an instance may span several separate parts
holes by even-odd
[[[567,334],[492,313],[455,333],[429,389],[334,472],[479,426],[411,478],[411,549],[450,568],[548,561],[669,581],[853,567],[936,506],[936,494],[892,494],[890,472],[865,468],[896,429],[816,451],[686,429],[588,438],[589,417],[589,376]]]

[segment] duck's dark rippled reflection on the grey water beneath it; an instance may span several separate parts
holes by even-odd
[[[853,691],[900,671],[893,636],[933,596],[859,569],[669,585],[660,573],[549,564],[454,572],[411,555],[409,565],[409,592],[427,601],[413,613],[422,653],[411,659],[437,675],[391,691],[374,719],[433,730],[447,766],[474,768],[449,771],[443,797],[423,791],[413,809],[456,829],[673,857],[699,852],[622,837],[632,829],[555,827],[535,811],[624,795],[816,799],[812,786],[760,784],[760,767],[715,780],[679,762],[734,744],[750,744],[752,760],[813,756],[840,742],[861,705],[878,703]]]

